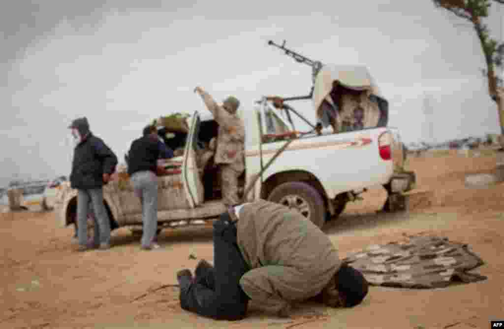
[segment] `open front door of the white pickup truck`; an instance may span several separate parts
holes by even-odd
[[[187,135],[182,163],[182,184],[191,208],[195,208],[204,201],[203,184],[196,161],[200,122],[200,116],[196,111],[191,120],[191,128]]]

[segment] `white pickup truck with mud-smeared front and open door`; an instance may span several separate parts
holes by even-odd
[[[241,196],[244,187],[260,174],[287,138],[294,136],[249,190],[247,201],[268,199],[285,204],[322,228],[326,220],[339,215],[345,204],[367,187],[383,185],[393,196],[414,184],[414,174],[397,170],[402,168],[405,155],[395,130],[378,127],[300,134],[282,111],[266,97],[252,109],[239,110],[246,127],[246,168],[239,179]],[[197,159],[201,148],[216,137],[217,123],[204,109],[188,119],[188,126],[188,134],[170,141],[183,141],[183,155],[164,161],[172,172],[158,178],[159,229],[205,224],[226,210],[218,171],[212,166],[198,167]],[[142,225],[140,200],[133,193],[125,168],[119,168],[104,187],[104,202],[112,228]],[[65,183],[55,205],[61,226],[75,222],[76,209],[77,191]]]

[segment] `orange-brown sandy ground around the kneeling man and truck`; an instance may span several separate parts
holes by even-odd
[[[488,173],[494,156],[423,156],[409,159],[418,188],[434,190],[429,208],[376,213],[382,188],[363,194],[325,228],[341,256],[427,232],[471,245],[486,264],[488,280],[435,290],[371,287],[352,309],[302,304],[291,319],[251,305],[238,322],[213,321],[180,309],[175,272],[212,260],[209,227],[167,230],[162,248],[146,252],[125,229],[113,233],[109,251],[78,253],[72,228],[56,226],[54,213],[0,213],[1,328],[278,327],[278,328],[487,328],[504,319],[504,184],[468,189],[468,173]],[[191,259],[193,254],[197,259]]]

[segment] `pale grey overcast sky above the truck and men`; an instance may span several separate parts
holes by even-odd
[[[153,118],[206,111],[197,85],[219,101],[236,95],[245,111],[262,95],[306,94],[311,69],[269,39],[324,63],[366,65],[406,142],[429,138],[425,95],[437,141],[499,132],[471,26],[431,0],[10,0],[0,36],[0,186],[68,175],[66,127],[77,117],[122,160]],[[314,119],[310,103],[292,105]]]

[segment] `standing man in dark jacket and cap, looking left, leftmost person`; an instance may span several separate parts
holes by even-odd
[[[74,159],[70,184],[78,190],[77,223],[79,250],[90,247],[110,248],[110,218],[103,203],[103,185],[117,166],[117,157],[100,138],[89,130],[88,120],[76,119],[69,126],[75,139]],[[94,245],[87,243],[87,215],[92,204],[96,218]]]

